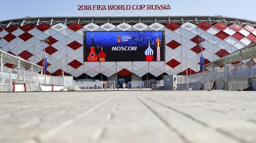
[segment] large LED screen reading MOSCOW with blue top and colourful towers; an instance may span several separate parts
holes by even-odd
[[[84,59],[93,61],[164,61],[162,31],[85,32]]]

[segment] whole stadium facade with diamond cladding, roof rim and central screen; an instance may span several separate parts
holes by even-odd
[[[45,49],[46,73],[56,76],[64,69],[77,79],[160,80],[200,72],[201,49],[206,64],[256,42],[255,28],[255,21],[209,16],[20,18],[0,22],[0,50],[42,66]],[[113,53],[105,47],[111,32],[116,43],[138,41],[112,46]]]

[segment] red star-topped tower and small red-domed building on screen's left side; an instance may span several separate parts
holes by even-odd
[[[97,56],[96,54],[96,48],[94,45],[94,37],[91,37],[91,45],[89,48],[89,54],[87,55],[87,61],[89,62],[95,62],[95,61],[105,61],[106,58],[106,54],[104,53],[102,47],[101,47],[101,51],[99,53],[99,55]]]

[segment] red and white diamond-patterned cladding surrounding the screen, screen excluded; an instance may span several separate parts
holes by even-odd
[[[83,61],[84,31],[165,31],[165,62],[85,62]],[[40,40],[49,40],[44,45]],[[17,55],[36,64],[41,64],[44,55],[48,58],[49,73],[61,75],[64,62],[65,74],[75,77],[86,73],[94,77],[99,73],[110,77],[115,73],[122,75],[134,73],[143,76],[151,73],[159,76],[167,74],[187,74],[199,72],[200,56],[203,53],[205,63],[226,56],[250,43],[256,42],[256,30],[250,24],[202,21],[160,23],[137,23],[130,25],[111,23],[98,25],[88,23],[56,23],[48,22],[24,23],[0,27],[1,50]],[[186,57],[187,56],[187,57]],[[15,68],[9,64],[7,67]]]

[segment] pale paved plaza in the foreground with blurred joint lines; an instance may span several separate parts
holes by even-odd
[[[256,92],[0,93],[0,142],[255,143]]]

